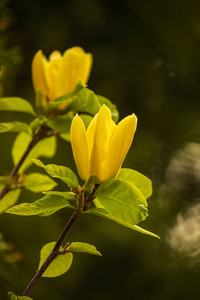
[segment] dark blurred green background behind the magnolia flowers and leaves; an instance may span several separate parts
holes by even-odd
[[[200,2],[198,0],[1,0],[1,96],[34,103],[31,61],[82,46],[94,56],[89,88],[114,102],[120,119],[135,113],[138,129],[124,166],[152,179],[154,239],[108,220],[83,216],[69,241],[94,244],[102,257],[74,255],[61,277],[42,279],[35,300],[197,300],[200,278]],[[0,113],[1,122],[30,121]],[[12,169],[16,134],[0,136],[0,175]],[[70,144],[42,159],[73,168]],[[29,172],[38,171],[31,167]],[[41,171],[41,170],[40,170]],[[59,183],[59,181],[58,181]],[[64,190],[59,183],[57,189]],[[20,202],[40,194],[22,191]],[[0,299],[21,294],[45,243],[55,241],[71,211],[46,217],[0,216]],[[9,244],[7,244],[9,243]]]

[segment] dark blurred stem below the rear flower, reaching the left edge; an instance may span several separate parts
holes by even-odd
[[[30,141],[26,151],[24,152],[24,154],[22,155],[20,161],[18,162],[18,164],[16,166],[14,166],[14,168],[12,169],[10,175],[9,175],[9,179],[8,182],[13,182],[15,176],[17,176],[17,173],[20,169],[20,167],[22,166],[23,162],[25,161],[26,157],[28,156],[28,154],[30,153],[30,151],[33,149],[33,147],[42,139],[44,139],[45,137],[50,137],[54,135],[54,133],[52,131],[49,131],[49,128],[46,127],[40,127],[40,129],[38,130],[38,132],[33,136],[32,140]],[[0,192],[0,200],[9,192],[11,191],[12,188],[9,185],[5,185],[3,187],[3,189]]]

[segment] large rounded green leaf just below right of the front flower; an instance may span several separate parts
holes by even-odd
[[[94,195],[109,214],[131,225],[147,217],[147,202],[143,194],[125,180],[107,180],[97,188]]]

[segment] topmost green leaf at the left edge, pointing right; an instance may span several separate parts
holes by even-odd
[[[27,100],[18,97],[0,98],[0,110],[25,112],[36,116],[31,104]]]

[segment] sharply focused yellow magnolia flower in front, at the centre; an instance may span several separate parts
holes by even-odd
[[[103,182],[117,176],[131,146],[137,126],[132,114],[116,125],[110,109],[103,105],[86,131],[76,115],[71,125],[71,145],[80,177],[96,175]]]

